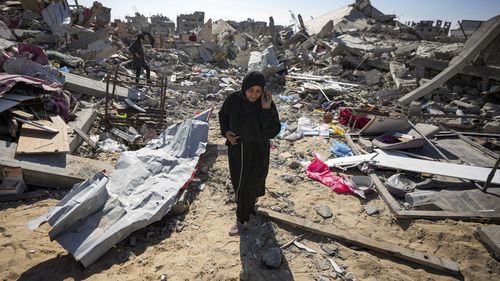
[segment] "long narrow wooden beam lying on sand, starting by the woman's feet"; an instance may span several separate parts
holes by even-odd
[[[274,212],[271,210],[259,209],[257,213],[263,216],[267,216],[275,221],[298,227],[315,234],[324,235],[338,241],[361,246],[366,249],[428,266],[430,268],[451,273],[459,272],[458,264],[448,258],[441,258],[432,254],[411,250],[387,241],[379,241],[372,238],[367,238],[352,231],[339,230],[332,226],[313,223],[303,218],[292,217],[290,215]]]

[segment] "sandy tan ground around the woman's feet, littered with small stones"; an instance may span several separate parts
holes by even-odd
[[[459,263],[461,275],[446,275],[314,234],[305,234],[300,242],[316,254],[292,245],[283,250],[278,269],[265,268],[261,257],[269,248],[305,232],[256,217],[244,235],[228,236],[235,204],[226,184],[227,156],[223,140],[217,137],[216,122],[215,118],[211,121],[210,147],[189,188],[189,211],[133,233],[133,238],[117,244],[89,268],[83,268],[57,242],[49,240],[49,226],[35,231],[25,226],[55,205],[64,191],[51,192],[49,198],[0,203],[1,280],[160,280],[162,275],[166,280],[334,280],[329,257],[321,250],[327,244],[339,249],[330,258],[358,280],[500,280],[500,263],[474,238],[480,224],[397,221],[376,194],[368,200],[336,194],[310,181],[303,171],[288,168],[293,159],[311,160],[315,151],[328,156],[329,142],[321,138],[302,139],[293,145],[274,142],[268,190],[260,206],[279,207],[350,233],[450,258]],[[204,183],[201,190],[200,183]],[[377,206],[380,214],[368,216],[363,209],[367,202]],[[333,217],[320,217],[314,209],[317,205],[329,206]],[[131,243],[133,240],[136,243]]]

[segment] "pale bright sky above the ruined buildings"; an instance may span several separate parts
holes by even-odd
[[[80,5],[91,6],[94,0],[80,0]],[[72,0],[68,0],[72,4]],[[304,21],[311,17],[336,10],[354,3],[354,0],[299,1],[299,0],[102,0],[111,8],[112,19],[124,19],[139,12],[145,16],[163,14],[175,22],[178,14],[205,12],[205,21],[253,18],[269,21],[273,16],[276,24],[291,24],[290,12],[301,14]],[[372,0],[372,5],[385,14],[395,14],[398,20],[485,20],[500,14],[500,0]]]

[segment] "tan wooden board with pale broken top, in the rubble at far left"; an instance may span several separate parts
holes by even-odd
[[[29,124],[23,124],[16,153],[68,153],[69,144],[66,123],[59,116],[54,117],[53,121],[53,123],[48,121],[41,121],[40,123],[59,130],[57,134],[45,132]]]

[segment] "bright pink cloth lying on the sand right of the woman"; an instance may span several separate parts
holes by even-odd
[[[321,182],[335,192],[355,194],[351,184],[346,178],[343,176],[334,176],[330,171],[330,167],[318,158],[315,158],[314,161],[309,164],[306,174],[310,179]]]

